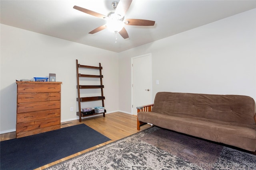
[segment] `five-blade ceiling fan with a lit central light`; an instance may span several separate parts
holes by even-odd
[[[110,27],[112,28],[112,31],[114,31],[115,33],[117,32],[120,33],[120,35],[124,39],[126,39],[129,36],[126,29],[124,28],[124,25],[152,26],[155,24],[155,21],[151,21],[151,20],[124,19],[124,15],[129,9],[131,3],[132,3],[132,0],[120,0],[119,2],[112,2],[112,7],[114,8],[114,11],[110,11],[107,16],[104,16],[102,14],[99,14],[97,12],[94,12],[79,6],[74,6],[73,8],[81,12],[84,12],[86,14],[90,14],[92,16],[107,20],[106,24],[90,31],[89,32],[90,34],[97,33],[98,31],[101,31],[106,27]]]

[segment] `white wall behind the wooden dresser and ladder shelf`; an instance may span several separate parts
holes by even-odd
[[[56,73],[56,81],[62,82],[61,121],[77,119],[76,59],[84,65],[102,64],[107,113],[118,110],[118,53],[3,24],[0,47],[1,133],[16,129],[15,80],[46,77],[49,73]]]

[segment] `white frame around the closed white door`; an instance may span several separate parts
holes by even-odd
[[[140,57],[150,57],[150,63],[151,63],[151,65],[150,65],[150,78],[151,78],[151,84],[150,84],[150,96],[151,96],[151,102],[152,102],[152,54],[151,53],[148,53],[148,54],[144,54],[144,55],[139,55],[139,56],[136,56],[136,57],[132,57],[131,58],[131,114],[132,115],[137,115],[137,113],[136,114],[134,114],[133,113],[133,87],[132,87],[132,84],[133,84],[133,66],[132,66],[132,64],[133,64],[133,60],[134,59],[137,59],[137,58],[140,58]],[[134,106],[134,107],[136,107],[136,106]]]

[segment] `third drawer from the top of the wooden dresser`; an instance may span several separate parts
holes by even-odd
[[[50,109],[60,109],[60,101],[31,102],[17,104],[17,113]]]

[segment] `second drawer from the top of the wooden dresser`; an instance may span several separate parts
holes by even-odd
[[[60,93],[22,93],[17,94],[17,103],[60,100]]]

